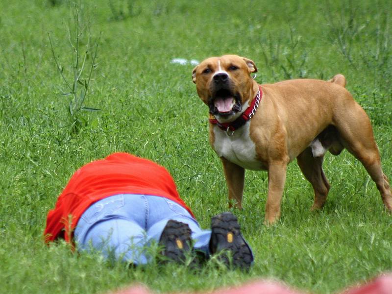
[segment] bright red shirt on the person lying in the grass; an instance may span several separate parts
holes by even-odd
[[[64,238],[72,232],[83,212],[98,200],[118,194],[142,194],[168,198],[189,213],[170,173],[162,166],[128,153],[113,153],[77,170],[48,213],[45,242]]]

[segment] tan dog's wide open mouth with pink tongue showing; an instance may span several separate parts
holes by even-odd
[[[210,112],[213,115],[229,116],[238,111],[241,111],[241,99],[227,89],[217,91],[211,99]]]

